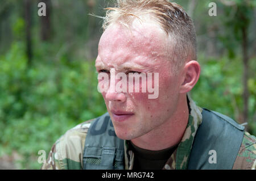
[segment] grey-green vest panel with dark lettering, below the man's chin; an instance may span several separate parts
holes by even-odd
[[[85,139],[83,169],[123,169],[123,140],[114,132],[108,113],[92,122]]]

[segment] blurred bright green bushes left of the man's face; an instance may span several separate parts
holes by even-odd
[[[0,57],[0,157],[16,150],[25,169],[38,169],[38,150],[75,125],[106,112],[93,61],[38,60],[27,66],[22,43]]]

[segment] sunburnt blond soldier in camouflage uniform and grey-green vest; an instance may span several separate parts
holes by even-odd
[[[109,77],[102,91],[108,113],[61,136],[42,169],[255,169],[255,137],[188,95],[200,65],[195,28],[181,6],[118,1],[103,28],[96,69]],[[158,73],[157,98],[116,91],[118,73]]]

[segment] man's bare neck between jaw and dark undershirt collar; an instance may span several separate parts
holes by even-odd
[[[146,150],[163,150],[178,144],[188,124],[187,96],[180,98],[177,109],[163,124],[141,137],[131,140],[134,145]],[[157,120],[156,120],[157,121]]]

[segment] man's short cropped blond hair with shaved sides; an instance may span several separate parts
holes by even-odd
[[[171,56],[176,65],[175,70],[189,60],[197,60],[195,27],[180,5],[167,0],[117,0],[115,7],[106,10],[103,30],[113,23],[129,27],[134,18],[142,21],[144,14],[152,15],[152,19],[159,23],[172,43]]]

